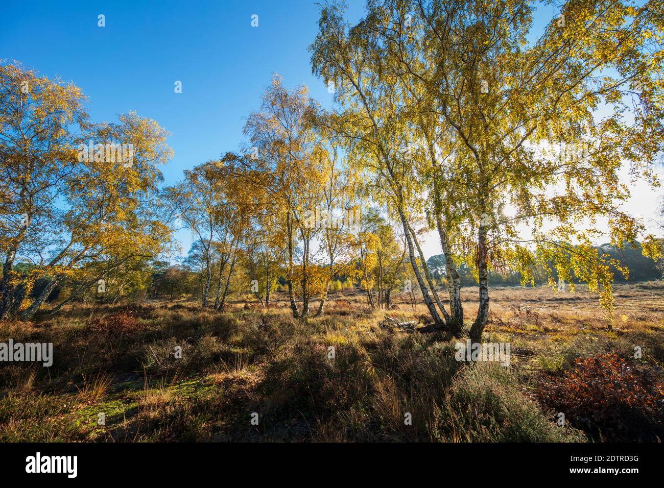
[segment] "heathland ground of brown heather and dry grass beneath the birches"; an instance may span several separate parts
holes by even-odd
[[[3,363],[0,440],[663,439],[663,282],[616,285],[613,331],[587,287],[492,289],[485,341],[509,343],[508,367],[456,361],[456,341],[382,329],[384,312],[349,290],[306,321],[275,298],[268,310],[236,301],[223,312],[75,305],[3,323],[0,342],[52,342],[54,359]],[[426,316],[396,298],[390,317]]]

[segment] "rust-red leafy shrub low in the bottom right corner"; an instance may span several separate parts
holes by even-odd
[[[618,355],[576,359],[562,380],[542,380],[537,396],[595,440],[664,440],[662,385]]]

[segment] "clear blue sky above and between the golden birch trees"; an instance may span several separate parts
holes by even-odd
[[[348,5],[347,17],[357,21],[364,0]],[[4,1],[0,59],[80,86],[94,122],[112,122],[130,110],[159,122],[171,132],[175,151],[161,167],[172,184],[183,169],[238,149],[244,120],[258,109],[273,72],[290,88],[307,84],[331,106],[323,81],[311,75],[307,52],[318,12],[310,0]],[[100,14],[106,27],[98,27]],[[251,27],[254,14],[258,27]],[[541,7],[536,29],[556,14],[551,5]],[[176,80],[181,94],[173,90]],[[661,195],[639,190],[629,206],[652,218]],[[178,237],[186,254],[191,239],[186,232]],[[435,238],[424,251],[440,253]]]

